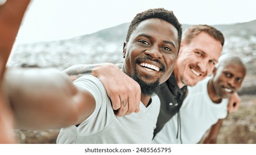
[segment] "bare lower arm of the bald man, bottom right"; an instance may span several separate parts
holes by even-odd
[[[209,131],[205,134],[203,138],[204,144],[215,144],[217,143],[217,136],[220,130],[220,127],[222,127],[223,119],[218,120],[217,123],[215,123],[212,127],[210,127]]]

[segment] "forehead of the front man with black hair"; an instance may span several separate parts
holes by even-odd
[[[133,31],[130,39],[140,34],[148,34],[156,39],[172,41],[178,46],[178,30],[169,22],[158,18],[143,20]]]

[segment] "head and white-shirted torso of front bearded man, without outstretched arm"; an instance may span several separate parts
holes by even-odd
[[[116,116],[101,81],[92,75],[81,76],[73,84],[87,92],[91,102],[84,102],[90,105],[89,112],[77,125],[62,128],[57,143],[151,143],[160,108],[154,94],[174,69],[181,34],[171,11],[149,9],[137,14],[123,46],[122,71],[141,87],[140,111]],[[128,100],[121,101],[126,106]]]

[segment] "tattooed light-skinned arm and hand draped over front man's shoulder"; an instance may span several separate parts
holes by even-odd
[[[74,65],[64,70],[64,73],[71,76],[72,80],[84,74],[98,77],[111,98],[116,115],[124,116],[139,111],[141,91],[139,84],[120,70],[121,66],[109,63]]]

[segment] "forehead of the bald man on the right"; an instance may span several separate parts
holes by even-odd
[[[222,72],[232,73],[236,77],[244,78],[246,70],[241,64],[226,63],[222,65]]]

